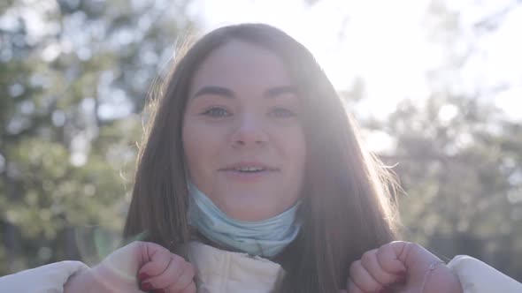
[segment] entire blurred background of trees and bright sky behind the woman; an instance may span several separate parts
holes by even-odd
[[[2,0],[0,275],[111,252],[150,85],[245,21],[311,49],[401,178],[406,240],[522,282],[520,0]]]

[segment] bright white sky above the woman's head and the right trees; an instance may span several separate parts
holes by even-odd
[[[427,0],[199,0],[194,6],[205,31],[241,22],[277,26],[311,50],[338,90],[365,82],[363,109],[386,116],[398,101],[423,99],[431,93],[427,72],[445,64],[446,47],[431,38]],[[460,13],[465,49],[472,42],[476,54],[458,73],[456,90],[486,94],[510,119],[522,121],[522,8],[513,9],[495,34],[480,38],[471,28],[484,16],[501,11],[509,1],[446,1]],[[460,47],[459,47],[460,46]]]

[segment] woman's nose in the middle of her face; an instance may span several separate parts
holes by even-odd
[[[259,146],[268,141],[266,127],[261,118],[244,115],[238,120],[232,135],[234,146]]]

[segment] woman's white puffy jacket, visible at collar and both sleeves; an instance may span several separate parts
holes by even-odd
[[[279,264],[239,252],[226,252],[193,242],[189,259],[196,267],[198,293],[268,293],[284,271]],[[464,293],[521,293],[522,284],[468,256],[457,256],[448,267],[457,273]],[[69,277],[88,267],[61,261],[0,278],[0,292],[62,293]]]

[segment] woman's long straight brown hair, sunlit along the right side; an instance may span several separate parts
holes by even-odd
[[[190,81],[205,56],[231,40],[270,49],[296,81],[305,104],[307,167],[299,237],[276,259],[286,270],[282,292],[332,292],[345,287],[349,265],[396,237],[393,177],[361,146],[357,124],[311,53],[273,26],[225,26],[206,34],[175,64],[159,91],[138,157],[124,236],[183,254],[190,240],[181,141]]]

